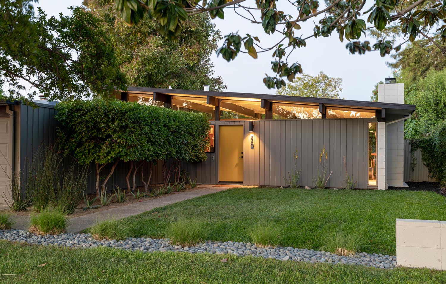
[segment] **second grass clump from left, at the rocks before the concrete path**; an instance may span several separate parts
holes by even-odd
[[[29,231],[36,235],[59,235],[65,233],[68,220],[60,209],[45,209],[30,218]]]

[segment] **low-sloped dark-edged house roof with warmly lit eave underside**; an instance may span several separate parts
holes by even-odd
[[[121,91],[124,92],[124,91]],[[212,96],[217,99],[233,99],[241,101],[260,101],[261,99],[268,100],[273,103],[299,103],[308,105],[318,105],[323,103],[326,107],[354,107],[362,109],[379,110],[385,108],[388,113],[394,114],[409,114],[415,111],[415,105],[404,103],[381,103],[357,101],[349,99],[326,99],[313,97],[299,97],[286,95],[268,95],[268,94],[252,94],[252,93],[238,93],[238,92],[216,92],[216,91],[193,91],[193,90],[179,90],[179,89],[163,89],[163,88],[149,88],[149,87],[128,87],[128,95],[137,95],[144,97],[144,95],[153,95],[153,93],[161,93],[165,95],[175,95],[183,97],[201,97],[206,98]]]

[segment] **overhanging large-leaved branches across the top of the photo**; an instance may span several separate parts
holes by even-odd
[[[446,40],[446,24],[442,23],[446,16],[446,1],[376,0],[367,11],[364,11],[367,9],[364,7],[365,0],[326,0],[325,7],[318,0],[293,0],[285,9],[283,6],[280,9],[277,7],[277,0],[256,0],[254,5],[246,3],[246,0],[115,0],[116,8],[128,25],[137,24],[147,13],[160,24],[160,33],[170,40],[180,37],[184,23],[190,16],[208,13],[213,19],[223,19],[227,8],[234,9],[252,24],[262,25],[267,34],[281,34],[279,41],[266,41],[267,45],[262,46],[258,35],[233,32],[224,37],[223,45],[217,50],[228,62],[240,53],[257,58],[260,52],[273,51],[273,74],[267,74],[263,79],[268,88],[279,89],[286,85],[283,78],[292,82],[297,74],[302,73],[301,64],[288,62],[288,58],[294,49],[305,47],[306,40],[311,37],[329,37],[336,32],[341,42],[344,39],[348,41],[346,48],[351,54],[361,55],[373,49],[379,51],[381,56],[390,54],[392,50],[400,50],[403,43],[413,42],[417,37],[424,37],[437,46],[430,36],[433,27],[438,27],[437,32],[443,41]],[[359,18],[365,14],[368,14],[366,21]],[[297,30],[301,29],[301,25],[310,20],[307,25],[313,26],[314,21],[311,20],[316,16],[320,20],[315,24],[313,33],[300,35]],[[386,34],[374,44],[360,41],[366,30],[394,28],[396,21],[395,26],[400,29],[398,35],[407,38],[406,41],[395,43],[395,38],[387,38]],[[441,46],[437,47],[442,49]]]

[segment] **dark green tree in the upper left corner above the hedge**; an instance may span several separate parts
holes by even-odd
[[[34,14],[32,3],[0,0],[0,84],[8,88],[5,95],[32,99],[38,91],[62,100],[125,88],[100,19],[81,8],[72,8],[72,16],[47,18],[40,8]]]

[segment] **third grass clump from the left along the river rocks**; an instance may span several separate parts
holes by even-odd
[[[109,241],[113,239],[123,240],[130,236],[127,226],[115,219],[98,222],[91,227],[90,234],[97,240],[107,239]]]

